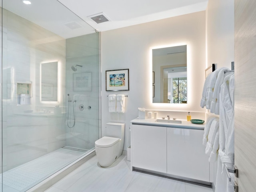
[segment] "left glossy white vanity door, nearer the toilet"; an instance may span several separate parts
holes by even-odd
[[[132,166],[166,173],[166,127],[132,125]]]

